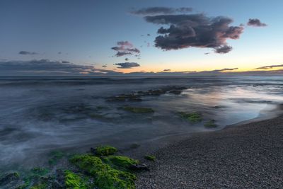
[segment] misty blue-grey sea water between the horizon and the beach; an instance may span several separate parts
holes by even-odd
[[[164,86],[187,89],[179,95],[146,96],[140,102],[106,101]],[[78,152],[98,144],[123,148],[270,118],[279,113],[282,94],[282,76],[0,77],[0,168],[43,164],[44,154],[54,149]],[[120,109],[123,105],[155,112],[128,113]],[[178,111],[197,111],[203,121],[187,122]],[[204,127],[212,119],[219,126]]]

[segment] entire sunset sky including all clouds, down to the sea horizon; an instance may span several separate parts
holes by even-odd
[[[0,75],[282,74],[282,7],[281,0],[1,0]]]

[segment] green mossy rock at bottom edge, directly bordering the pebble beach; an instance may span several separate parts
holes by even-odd
[[[136,179],[132,173],[111,168],[106,171],[98,171],[95,182],[100,189],[134,189]]]

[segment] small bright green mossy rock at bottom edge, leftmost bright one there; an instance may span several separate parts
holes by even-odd
[[[67,189],[87,189],[86,181],[83,181],[81,176],[73,173],[69,170],[64,171],[65,173],[65,186]]]

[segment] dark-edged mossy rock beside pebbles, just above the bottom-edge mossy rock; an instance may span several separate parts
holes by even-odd
[[[113,168],[127,170],[133,165],[139,164],[138,160],[131,159],[127,156],[108,156],[103,159],[106,164],[109,164]]]

